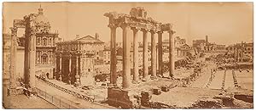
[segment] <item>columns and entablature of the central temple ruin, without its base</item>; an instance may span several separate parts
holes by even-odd
[[[131,8],[130,14],[118,14],[116,12],[110,12],[104,14],[108,17],[109,23],[108,27],[111,29],[111,75],[110,75],[110,85],[116,85],[116,28],[120,27],[123,30],[123,88],[129,88],[130,86],[130,76],[131,76],[131,56],[130,56],[130,36],[128,36],[128,31],[133,31],[133,81],[138,80],[138,41],[137,32],[143,31],[143,80],[148,80],[148,46],[151,47],[151,67],[152,78],[156,77],[156,34],[158,34],[159,39],[159,65],[160,65],[160,75],[162,68],[162,33],[167,31],[169,33],[169,58],[170,58],[170,76],[172,77],[174,69],[173,61],[173,37],[172,35],[175,31],[172,31],[172,24],[166,23],[162,24],[155,21],[154,19],[147,17],[147,11],[142,7]],[[151,34],[151,45],[148,45],[148,32]]]

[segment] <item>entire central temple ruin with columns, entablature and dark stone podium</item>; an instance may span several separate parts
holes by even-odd
[[[108,88],[108,103],[110,105],[119,105],[122,108],[131,108],[129,105],[130,100],[125,98],[126,94],[131,90],[131,84],[140,82],[138,73],[138,36],[137,32],[143,32],[143,81],[147,81],[150,78],[155,79],[157,77],[157,70],[159,75],[163,76],[163,49],[162,49],[162,35],[164,32],[169,33],[169,77],[172,78],[174,70],[173,60],[173,37],[175,31],[172,30],[172,24],[163,24],[154,19],[147,17],[147,11],[142,7],[131,8],[130,14],[118,14],[116,12],[110,12],[104,14],[108,17],[111,36],[111,64],[110,64],[110,85]],[[122,29],[123,33],[123,74],[122,74],[122,88],[119,90],[117,86],[117,73],[116,73],[116,29]],[[132,37],[129,35],[129,30],[133,31]],[[151,34],[151,75],[148,75],[148,33]],[[132,38],[132,39],[131,39]],[[156,44],[158,39],[158,45]],[[133,65],[130,64],[130,47],[133,48]],[[158,47],[158,50],[157,50]],[[157,51],[158,51],[158,64],[157,69]],[[133,66],[133,68],[131,68]],[[132,79],[131,79],[132,69]],[[129,95],[129,94],[128,94]],[[128,96],[129,98],[129,96]],[[130,98],[131,99],[131,98]],[[126,101],[127,100],[127,101]],[[129,107],[130,106],[130,107]]]

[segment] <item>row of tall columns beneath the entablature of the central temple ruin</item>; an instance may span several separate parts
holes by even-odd
[[[110,64],[110,86],[117,86],[116,80],[116,28],[118,26],[116,25],[108,25],[110,27],[111,31],[111,64]],[[151,33],[151,79],[156,78],[157,73],[157,53],[156,53],[156,33],[158,34],[158,41],[159,41],[159,71],[160,76],[163,76],[163,60],[162,60],[162,34],[163,31],[152,31],[147,29],[140,29],[137,27],[130,27],[129,25],[122,24],[120,26],[123,30],[123,81],[122,86],[124,89],[129,88],[131,86],[131,62],[130,62],[130,40],[129,40],[129,30],[132,30],[133,32],[133,77],[132,77],[132,83],[138,83],[139,82],[139,71],[138,71],[138,38],[137,38],[137,32],[143,31],[143,81],[146,81],[150,78],[148,75],[148,32]],[[173,61],[173,38],[172,35],[174,34],[174,31],[169,31],[169,40],[170,40],[170,77],[173,75],[173,69],[174,69],[174,61]]]

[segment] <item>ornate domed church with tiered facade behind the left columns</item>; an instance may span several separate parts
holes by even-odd
[[[43,8],[38,8],[38,15],[33,19],[36,27],[36,69],[41,74],[53,78],[55,71],[56,42],[60,39],[58,33],[50,32],[49,20],[44,16]]]

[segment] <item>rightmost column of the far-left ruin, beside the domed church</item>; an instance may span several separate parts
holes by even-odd
[[[32,27],[31,35],[29,36],[29,85],[33,88],[36,86],[35,80],[35,59],[36,59],[36,30]]]

